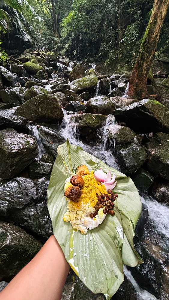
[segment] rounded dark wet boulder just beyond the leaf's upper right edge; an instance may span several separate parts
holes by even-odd
[[[125,174],[131,174],[137,171],[147,160],[146,151],[143,147],[134,143],[117,146],[115,156],[118,160],[121,172]]]

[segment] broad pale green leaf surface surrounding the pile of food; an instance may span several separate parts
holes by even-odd
[[[110,299],[124,280],[123,263],[136,266],[143,262],[134,250],[134,229],[141,214],[141,201],[137,188],[130,177],[108,167],[98,158],[70,145],[68,141],[57,149],[48,187],[48,209],[53,224],[53,233],[59,242],[66,260],[83,283],[94,293],[104,293]],[[86,234],[75,231],[70,222],[63,221],[67,211],[64,196],[65,179],[70,177],[65,164],[85,164],[89,171],[102,168],[116,174],[114,192],[115,215],[106,215],[103,223]]]

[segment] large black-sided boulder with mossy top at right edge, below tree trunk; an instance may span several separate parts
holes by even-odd
[[[118,108],[113,115],[136,132],[169,132],[169,110],[158,101],[143,99]]]

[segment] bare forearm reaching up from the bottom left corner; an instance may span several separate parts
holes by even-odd
[[[0,293],[0,300],[60,300],[70,266],[52,235]]]

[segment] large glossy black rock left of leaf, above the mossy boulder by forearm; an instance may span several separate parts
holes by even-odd
[[[43,184],[42,184],[43,183]],[[52,223],[47,209],[48,181],[17,177],[0,186],[0,217],[25,230],[48,238]]]

